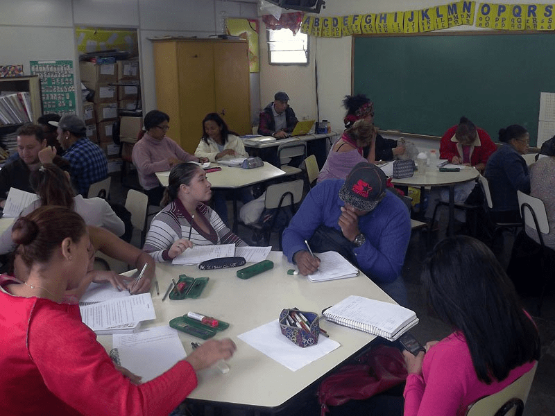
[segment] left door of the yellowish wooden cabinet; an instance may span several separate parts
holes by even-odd
[[[203,119],[216,107],[214,49],[210,42],[178,41],[180,146],[194,154],[203,134]],[[173,121],[170,120],[170,129]],[[171,137],[171,136],[170,136]]]

